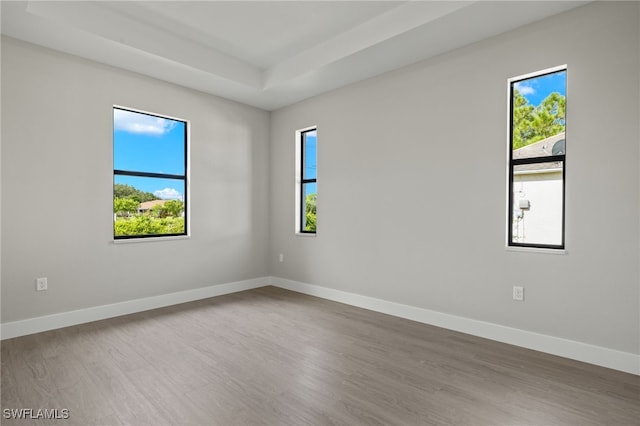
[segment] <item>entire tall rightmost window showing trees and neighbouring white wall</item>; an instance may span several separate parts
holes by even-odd
[[[509,80],[509,246],[564,248],[567,68]]]

